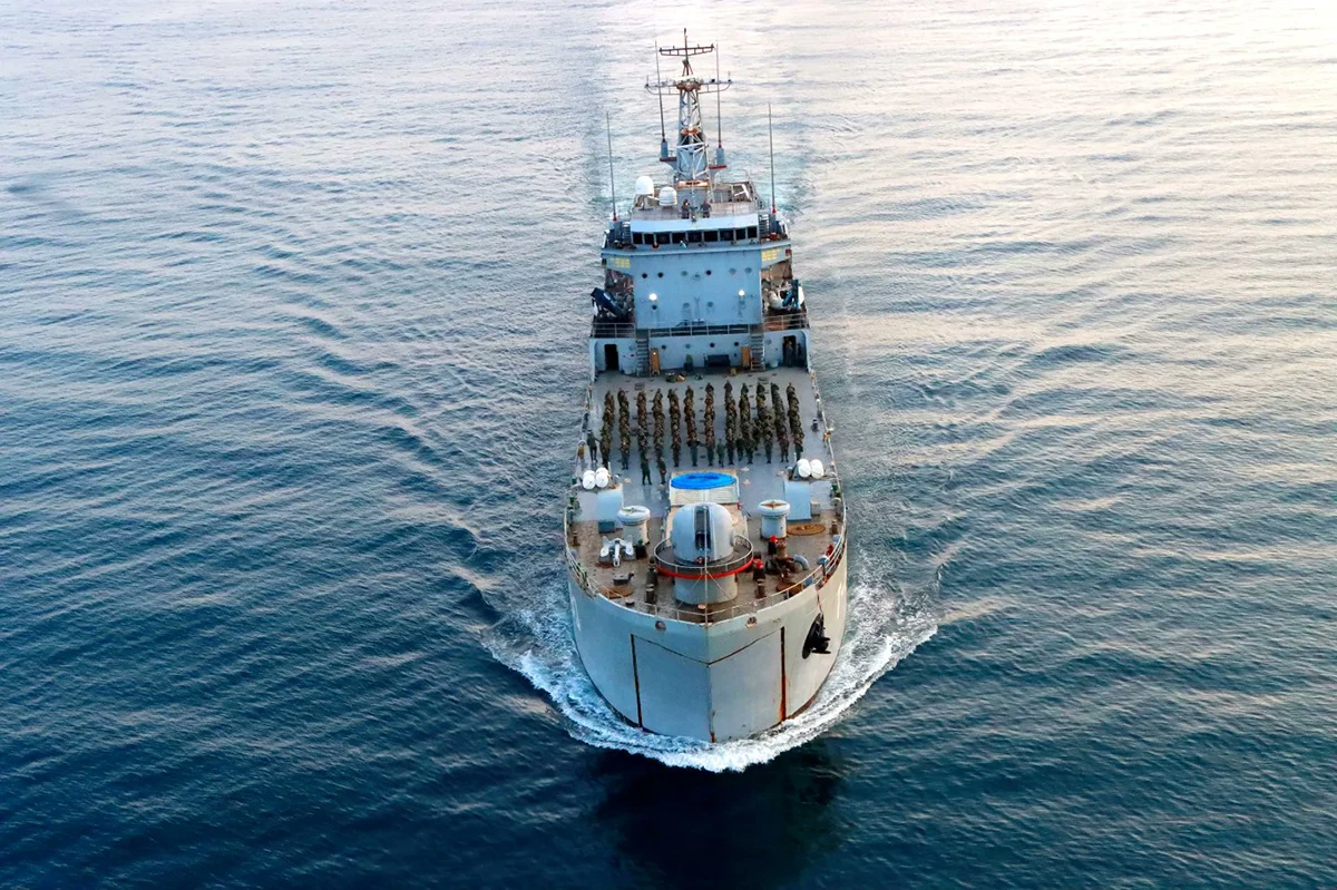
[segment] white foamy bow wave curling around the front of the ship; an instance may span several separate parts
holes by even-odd
[[[762,735],[710,744],[644,732],[608,707],[580,665],[563,584],[554,584],[545,591],[535,608],[515,615],[527,631],[525,636],[531,637],[528,647],[492,639],[492,653],[552,699],[567,718],[567,728],[574,738],[640,754],[668,766],[711,772],[742,771],[817,738],[845,716],[877,678],[937,631],[931,611],[916,608],[901,592],[856,584],[850,591],[838,660],[812,707]]]

